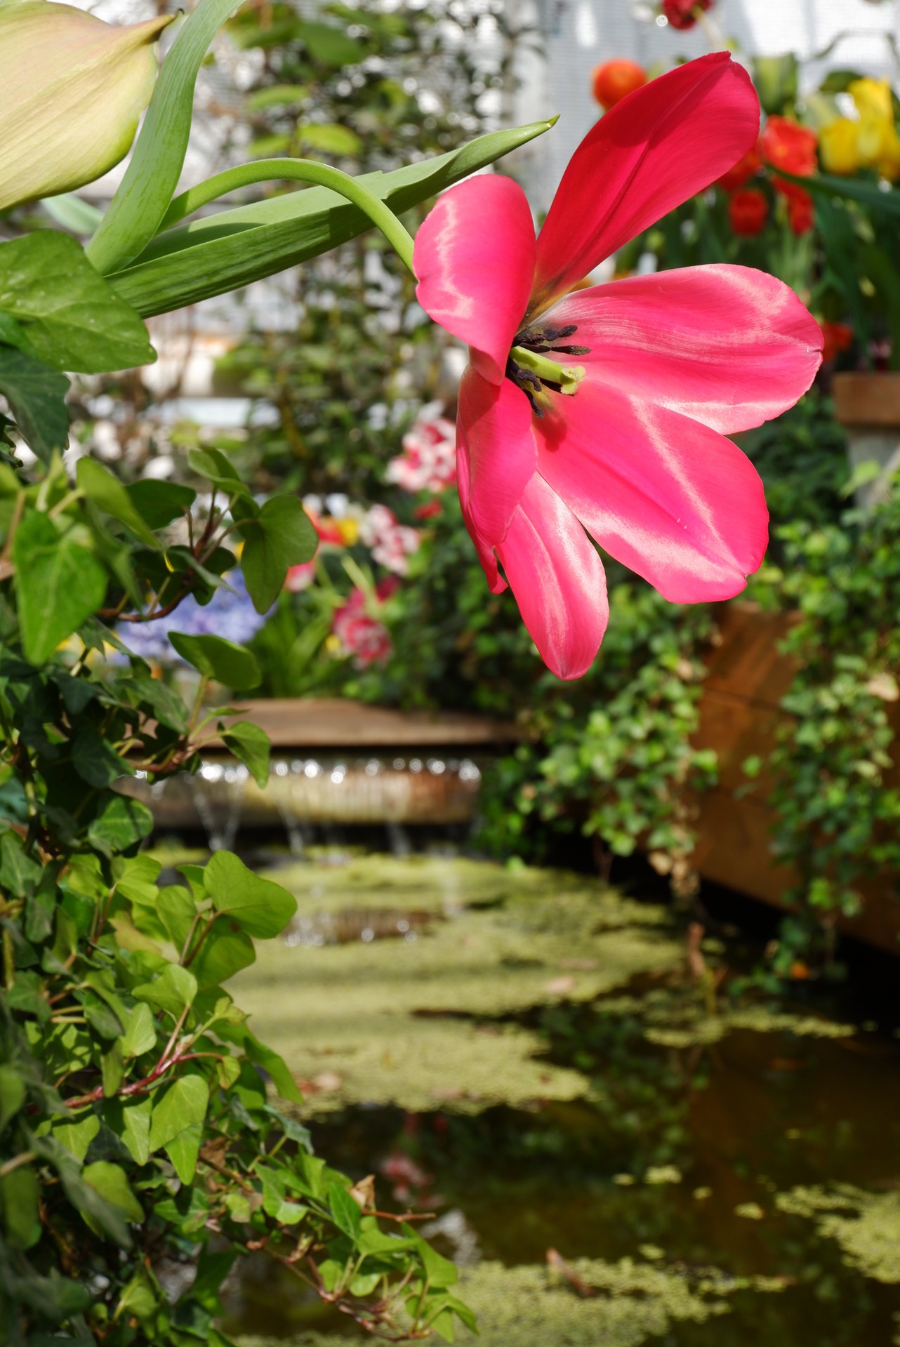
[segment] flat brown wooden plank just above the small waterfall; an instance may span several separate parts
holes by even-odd
[[[515,744],[519,726],[455,711],[397,711],[344,698],[255,698],[236,709],[275,749],[480,748]]]

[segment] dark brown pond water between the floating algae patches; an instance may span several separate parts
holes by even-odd
[[[445,912],[438,921],[441,913],[427,896],[418,905],[410,904],[407,878],[395,885],[389,874],[373,873],[373,892],[362,900],[360,874],[348,877],[352,892],[346,909],[354,917],[348,912],[341,925],[335,919],[341,911],[340,874],[330,877],[323,894],[325,881],[315,865],[292,872],[300,913],[306,913],[306,936],[337,929],[338,943],[360,948],[360,959],[375,959],[361,947],[384,948],[381,938],[396,933],[408,907],[418,913],[415,924],[401,931],[403,940],[392,947],[406,947],[412,929],[419,950],[431,951],[431,958],[437,946],[423,943],[450,939],[453,931],[445,931],[453,928],[459,905],[465,907],[466,877],[453,888],[450,916]],[[477,897],[478,911],[496,916],[503,900],[488,901],[484,893]],[[422,915],[428,911],[435,915],[432,925]],[[375,913],[372,920],[366,912]],[[360,932],[373,933],[360,936],[357,925]],[[678,929],[664,928],[663,933],[670,942],[683,940]],[[477,939],[477,931],[465,935],[462,946]],[[294,970],[298,986],[303,985],[323,967],[313,960],[321,960],[326,944],[315,947],[313,939],[304,939],[284,947],[263,968],[260,986],[278,993],[283,966]],[[556,1250],[567,1265],[633,1259],[640,1268],[664,1272],[667,1284],[676,1289],[683,1282],[693,1290],[702,1282],[713,1297],[721,1290],[726,1307],[721,1316],[698,1323],[672,1317],[663,1305],[660,1323],[645,1329],[631,1324],[628,1315],[617,1317],[621,1297],[602,1292],[590,1301],[587,1320],[574,1324],[560,1317],[556,1329],[552,1320],[543,1328],[516,1323],[512,1304],[494,1315],[494,1297],[493,1311],[489,1300],[482,1309],[484,1347],[899,1343],[896,1039],[872,1029],[842,1037],[810,1033],[808,1017],[821,1005],[814,990],[802,989],[806,999],[799,1008],[754,1004],[757,1014],[798,1012],[792,1028],[765,1029],[760,1020],[761,1028],[729,1025],[717,1041],[698,1041],[715,1037],[710,1024],[722,1016],[728,999],[719,990],[710,1016],[709,990],[691,983],[684,967],[672,960],[671,944],[664,958],[660,954],[662,971],[640,973],[600,998],[583,995],[571,1004],[566,978],[577,982],[581,970],[591,964],[591,951],[585,951],[579,943],[571,960],[543,970],[542,977],[551,978],[544,978],[551,990],[543,1004],[538,998],[515,1012],[507,1006],[494,1014],[484,1009],[476,1013],[481,1032],[493,1033],[497,1024],[511,1021],[527,1029],[543,1045],[547,1064],[575,1071],[589,1082],[582,1096],[519,1102],[517,1107],[496,1102],[480,1107],[465,1091],[455,1100],[453,1090],[447,1099],[435,1099],[434,1107],[401,1107],[403,1098],[397,1105],[377,1106],[341,1100],[310,1122],[317,1152],[354,1179],[376,1175],[383,1210],[434,1212],[431,1238],[463,1270],[472,1269],[476,1280],[478,1269],[500,1263],[507,1269],[527,1266],[538,1281],[547,1276],[547,1251]],[[294,955],[294,964],[284,963]],[[349,977],[349,964],[337,962],[342,958],[340,951],[334,954],[333,994],[338,999],[341,978]],[[519,954],[515,958],[521,962]],[[725,959],[745,962],[745,951],[726,944],[709,954],[710,964]],[[602,954],[594,952],[594,962],[602,962]],[[567,966],[575,973],[567,974]],[[365,975],[375,977],[381,964],[365,967]],[[414,982],[415,968],[411,963],[408,978]],[[435,986],[439,1005],[432,1013],[465,1017],[465,1006],[454,1006],[439,990],[442,985]],[[248,985],[248,990],[252,999],[255,987]],[[245,1001],[240,986],[237,995]],[[516,995],[523,999],[519,991]],[[426,1009],[412,1008],[411,1013],[420,1018]],[[291,1024],[300,1012],[300,1006],[292,1010],[290,999],[279,999],[288,1041],[291,1033],[303,1033],[299,1018]],[[268,1026],[259,1032],[271,1037]],[[276,1045],[283,1049],[282,1043]],[[329,1087],[326,1080],[325,1090]],[[583,1272],[582,1278],[590,1282]],[[734,1289],[736,1278],[768,1281]],[[461,1294],[468,1299],[465,1284]],[[515,1297],[515,1288],[508,1294]],[[577,1299],[566,1285],[556,1294]],[[632,1290],[628,1304],[643,1315],[651,1294]],[[357,1335],[344,1316],[310,1300],[290,1274],[264,1259],[248,1261],[234,1278],[222,1327],[255,1339],[296,1342],[317,1342],[306,1338],[310,1331],[329,1342]]]

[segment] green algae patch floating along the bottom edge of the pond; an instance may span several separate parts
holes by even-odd
[[[659,1266],[622,1258],[574,1258],[566,1266],[590,1294],[542,1265],[505,1268],[482,1262],[461,1276],[459,1294],[478,1316],[476,1338],[462,1329],[458,1343],[481,1347],[641,1347],[679,1321],[706,1323],[729,1312],[740,1290],[773,1292],[777,1278],[730,1277],[717,1269]],[[241,1338],[240,1347],[274,1347],[271,1339]],[[346,1347],[345,1336],[303,1334],[280,1347]]]

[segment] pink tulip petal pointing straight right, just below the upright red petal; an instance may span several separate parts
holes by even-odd
[[[578,290],[554,326],[604,383],[732,434],[761,426],[807,391],[822,329],[788,286],[750,267],[690,267]]]

